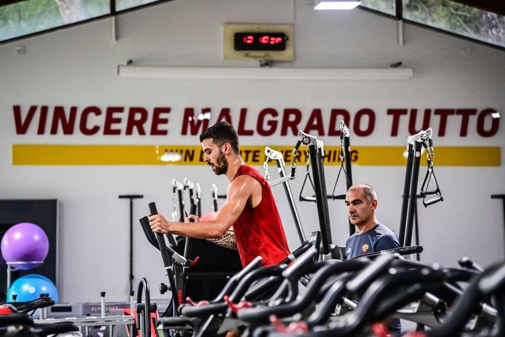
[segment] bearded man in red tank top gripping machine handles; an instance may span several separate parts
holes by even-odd
[[[219,122],[200,134],[204,161],[217,175],[230,180],[226,202],[211,221],[199,221],[195,215],[186,218],[199,222],[188,225],[170,222],[161,214],[149,216],[154,232],[172,233],[196,238],[214,239],[236,249],[242,266],[257,256],[262,265],[274,265],[289,255],[286,235],[270,185],[256,170],[245,165],[238,149],[238,135],[233,126]],[[228,229],[233,225],[234,232]],[[231,245],[230,245],[231,244]]]

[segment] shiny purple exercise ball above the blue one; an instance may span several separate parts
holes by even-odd
[[[9,228],[0,244],[6,262],[44,261],[49,252],[49,240],[42,228],[30,222],[21,222]],[[28,270],[39,264],[17,264],[16,268]]]

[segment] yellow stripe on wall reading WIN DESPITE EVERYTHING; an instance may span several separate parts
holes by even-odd
[[[292,147],[270,147],[284,154],[286,165],[292,162]],[[406,147],[352,147],[353,165],[405,166]],[[265,147],[240,147],[244,162],[262,165]],[[325,165],[340,165],[339,147],[324,147]],[[165,152],[180,160],[164,162]],[[301,147],[297,165],[304,165],[307,147]],[[500,166],[500,147],[435,147],[435,166]],[[12,146],[13,165],[204,165],[200,146],[171,145],[21,145]],[[426,165],[426,156],[421,156]]]

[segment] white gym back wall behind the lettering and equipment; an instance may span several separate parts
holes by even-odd
[[[197,145],[195,136],[181,136],[185,107],[229,107],[234,123],[240,108],[249,109],[247,127],[263,108],[298,108],[302,125],[314,108],[321,108],[325,123],[332,108],[354,115],[361,108],[377,114],[372,135],[351,135],[353,146],[403,146],[407,121],[397,137],[390,137],[388,108],[495,108],[505,111],[505,52],[461,38],[405,24],[405,44],[397,44],[396,22],[362,10],[313,11],[311,1],[174,1],[118,16],[118,41],[111,41],[111,20],[104,19],[40,36],[0,45],[0,198],[57,198],[60,201],[60,249],[58,286],[62,301],[98,301],[107,291],[110,301],[126,300],[128,286],[128,203],[120,194],[143,194],[135,201],[134,218],[157,201],[161,213],[171,212],[170,181],[184,177],[199,182],[204,193],[204,212],[210,211],[210,188],[227,186],[207,166],[13,166],[15,143],[33,144],[174,144]],[[279,67],[387,67],[402,61],[415,75],[402,81],[287,81],[287,80],[172,80],[131,79],[116,74],[118,64],[132,59],[137,64],[192,66],[256,66],[222,58],[222,24],[293,24],[295,61]],[[26,55],[16,56],[16,45]],[[471,53],[465,54],[470,48]],[[254,92],[255,94],[250,94]],[[31,105],[95,105],[171,107],[168,136],[84,136],[78,133],[37,135],[32,125],[17,135],[12,107],[23,114]],[[149,109],[148,109],[149,110]],[[24,116],[24,115],[23,115]],[[215,118],[215,117],[214,117]],[[236,120],[236,121],[235,121]],[[212,119],[211,119],[212,121]],[[438,127],[439,118],[432,117]],[[449,120],[446,135],[435,137],[435,146],[503,146],[503,118],[496,135],[477,134],[471,119],[467,137],[459,136],[460,119]],[[321,137],[326,145],[338,145],[337,137]],[[293,145],[293,136],[242,137],[242,145]],[[501,149],[503,156],[503,148]],[[305,168],[299,167],[299,173]],[[331,191],[337,167],[326,169]],[[422,169],[422,174],[424,170]],[[271,174],[275,171],[271,171]],[[423,261],[455,265],[468,255],[488,265],[503,259],[501,203],[491,194],[505,192],[503,166],[437,167],[444,202],[420,208]],[[273,176],[274,174],[272,174]],[[301,176],[301,174],[300,174]],[[379,221],[398,230],[405,168],[355,166],[355,182],[374,185],[379,195]],[[301,179],[292,183],[297,197]],[[276,188],[288,242],[298,238],[282,188]],[[296,199],[296,198],[295,198]],[[309,234],[318,228],[314,204],[297,204]],[[345,208],[330,204],[333,241],[343,245],[348,234]],[[136,225],[136,223],[135,223]],[[135,283],[146,276],[153,289],[164,281],[159,253],[149,246],[135,226]],[[156,297],[156,296],[155,296]]]

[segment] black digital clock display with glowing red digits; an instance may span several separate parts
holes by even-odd
[[[236,51],[284,51],[288,37],[284,33],[237,32]]]

